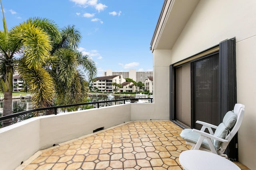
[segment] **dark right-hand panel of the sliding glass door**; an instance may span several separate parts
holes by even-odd
[[[192,62],[193,119],[218,125],[218,53]],[[198,124],[193,125],[200,129]]]

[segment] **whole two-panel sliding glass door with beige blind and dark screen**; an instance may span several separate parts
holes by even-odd
[[[175,68],[175,119],[201,128],[196,120],[218,124],[218,53]]]

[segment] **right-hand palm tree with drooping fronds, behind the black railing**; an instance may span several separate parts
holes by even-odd
[[[54,105],[66,105],[87,102],[88,81],[96,76],[94,61],[88,56],[78,52],[78,44],[81,39],[80,32],[72,26],[64,27],[61,31],[61,40],[54,41],[51,56],[43,64],[41,73],[47,75],[47,81],[41,82],[41,74],[20,65],[18,68],[25,82],[29,82],[34,95],[34,107],[48,107]],[[54,40],[54,37],[52,37]],[[24,62],[21,62],[24,63]],[[86,75],[86,76],[85,76]],[[86,81],[86,78],[88,81]],[[46,94],[48,94],[46,96]],[[56,96],[52,95],[56,94]],[[46,100],[46,102],[42,102]],[[68,111],[77,107],[64,108]],[[45,112],[45,115],[52,114]]]

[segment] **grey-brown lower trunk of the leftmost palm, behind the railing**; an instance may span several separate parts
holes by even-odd
[[[3,116],[12,114],[12,92],[4,92]],[[12,118],[2,121],[2,127],[12,125]]]

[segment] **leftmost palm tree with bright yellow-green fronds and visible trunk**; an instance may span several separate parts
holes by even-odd
[[[0,2],[2,7],[2,1]],[[46,63],[52,50],[50,35],[54,35],[55,40],[58,40],[60,34],[52,21],[40,18],[20,23],[8,32],[3,7],[2,14],[4,31],[0,31],[0,70],[4,91],[3,115],[9,115],[12,114],[12,75],[15,66],[20,65],[15,54],[22,55],[21,64],[33,70],[35,74],[41,73],[41,66]],[[2,121],[3,127],[10,124],[12,119]]]

